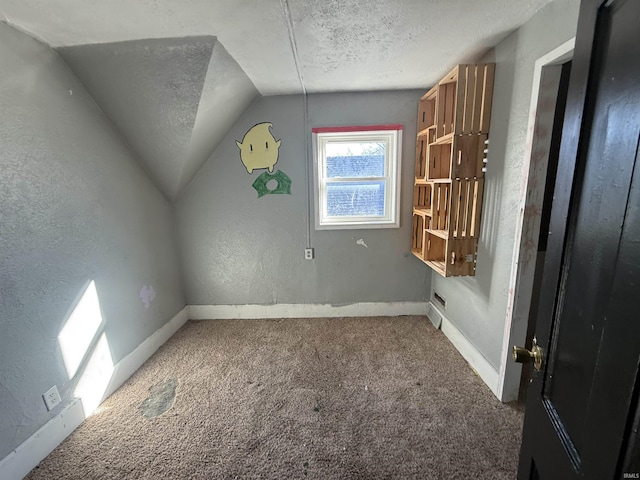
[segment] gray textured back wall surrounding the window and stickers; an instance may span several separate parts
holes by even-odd
[[[187,303],[426,300],[431,271],[409,252],[416,115],[421,93],[310,95],[307,132],[302,96],[256,101],[176,203]],[[276,169],[291,178],[291,195],[257,198],[251,187],[262,171],[247,173],[235,140],[242,140],[245,132],[260,122],[273,123],[275,138],[282,139]],[[316,259],[304,260],[308,181],[305,135],[310,152],[310,129],[314,126],[377,123],[404,125],[401,228],[312,231]],[[361,238],[367,248],[356,243]]]

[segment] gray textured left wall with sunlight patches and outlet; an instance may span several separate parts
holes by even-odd
[[[114,362],[185,302],[171,207],[82,84],[3,23],[0,65],[1,459],[71,400],[57,336],[87,282]],[[47,412],[53,384],[62,402]]]

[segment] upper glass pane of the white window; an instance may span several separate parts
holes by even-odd
[[[384,177],[385,142],[329,142],[327,178]]]

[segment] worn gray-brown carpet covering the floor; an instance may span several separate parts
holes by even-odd
[[[522,419],[426,317],[190,321],[26,478],[513,479]]]

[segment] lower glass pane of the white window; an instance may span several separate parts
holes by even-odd
[[[385,182],[327,183],[327,215],[384,216]]]

